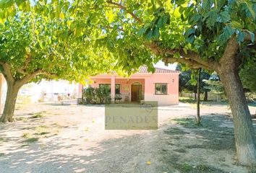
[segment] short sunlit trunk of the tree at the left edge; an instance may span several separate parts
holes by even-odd
[[[5,100],[4,112],[0,117],[0,122],[4,122],[4,123],[8,121],[13,122],[15,120],[13,115],[14,115],[17,94],[19,90],[20,90],[20,87],[17,86],[17,84],[9,83],[7,81],[7,98]]]

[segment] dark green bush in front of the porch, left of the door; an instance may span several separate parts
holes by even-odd
[[[99,88],[89,86],[83,90],[82,94],[85,104],[109,104],[111,102],[109,88],[107,86],[101,86]]]

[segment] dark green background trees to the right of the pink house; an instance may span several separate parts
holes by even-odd
[[[178,65],[176,67],[177,71],[182,71],[182,66]],[[247,65],[245,64],[239,70],[239,76],[242,79],[242,84],[244,87],[244,92],[247,94],[247,100],[256,101],[256,62],[254,64]],[[179,92],[192,92],[194,93],[194,99],[197,98],[197,82],[196,82],[196,73],[195,71],[189,69],[184,70],[179,75]],[[223,84],[221,79],[216,74],[216,72],[208,72],[202,70],[200,77],[200,91],[201,94],[204,94],[204,101],[208,101],[208,92],[213,94],[220,94],[221,99],[226,101],[226,94],[224,91]]]

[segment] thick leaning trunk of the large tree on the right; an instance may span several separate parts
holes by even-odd
[[[252,117],[244,95],[238,70],[219,71],[234,119],[236,154],[243,165],[256,164],[256,141]]]

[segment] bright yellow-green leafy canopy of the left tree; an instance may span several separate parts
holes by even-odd
[[[65,0],[1,1],[0,64],[9,64],[15,81],[83,82],[114,67],[108,53],[92,51],[87,24],[75,18],[76,10]]]

